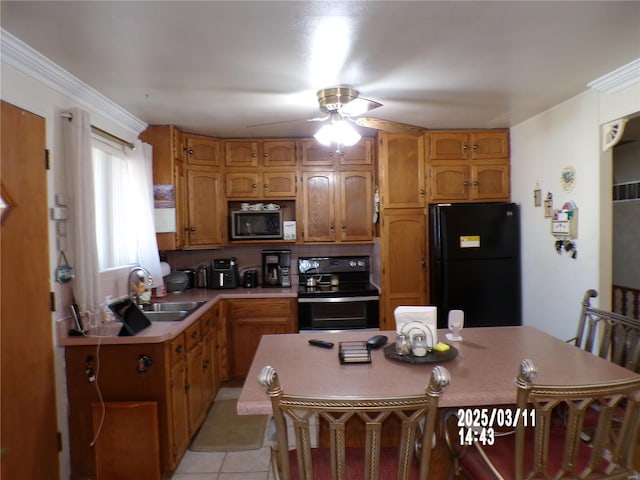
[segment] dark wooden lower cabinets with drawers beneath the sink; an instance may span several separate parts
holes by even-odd
[[[65,349],[71,480],[94,479],[92,404],[152,401],[158,409],[160,465],[173,472],[215,397],[216,306],[164,343]]]

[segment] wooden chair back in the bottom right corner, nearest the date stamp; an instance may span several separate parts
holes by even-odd
[[[534,384],[535,374],[533,363],[523,360],[516,380],[517,408],[520,412],[533,408],[535,426],[533,439],[531,422],[526,425],[521,421],[516,427],[516,480],[634,478],[633,460],[640,430],[640,377],[558,386]],[[594,411],[598,412],[595,434],[587,443],[583,431],[590,422],[585,418]],[[621,413],[623,419],[619,423],[616,417]]]

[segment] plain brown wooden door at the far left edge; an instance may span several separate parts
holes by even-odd
[[[0,477],[59,477],[45,120],[2,102]]]

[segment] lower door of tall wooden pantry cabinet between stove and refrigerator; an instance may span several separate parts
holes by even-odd
[[[395,330],[399,305],[427,305],[427,224],[423,210],[390,213],[381,225],[383,330]]]

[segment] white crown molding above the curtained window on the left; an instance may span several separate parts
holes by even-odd
[[[0,47],[2,63],[16,68],[85,108],[131,130],[136,137],[147,128],[145,122],[4,29],[0,29]]]

